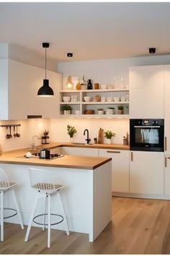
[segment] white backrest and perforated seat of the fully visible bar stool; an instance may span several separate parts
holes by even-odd
[[[37,190],[49,191],[55,189],[55,184],[43,169],[29,168],[31,187]]]

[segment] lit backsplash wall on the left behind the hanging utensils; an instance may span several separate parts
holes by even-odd
[[[0,121],[0,125],[3,124],[21,124],[19,127],[19,134],[21,137],[14,137],[14,129],[12,127],[12,138],[6,139],[6,132],[9,133],[9,129],[6,127],[0,127],[0,145],[3,151],[14,150],[19,148],[30,148],[32,144],[32,136],[42,136],[44,130],[50,129],[50,119],[28,119],[28,120],[14,120],[14,121]],[[15,130],[15,132],[17,132]],[[35,138],[35,145],[40,145],[41,140]]]

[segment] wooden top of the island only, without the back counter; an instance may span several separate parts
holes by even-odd
[[[79,155],[64,155],[61,158],[45,160],[38,157],[25,158],[24,155],[26,153],[27,150],[7,151],[3,153],[3,155],[0,155],[0,163],[94,170],[95,168],[102,166],[104,163],[112,161],[112,158],[99,158]]]

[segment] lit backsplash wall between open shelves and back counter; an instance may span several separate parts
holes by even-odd
[[[98,138],[99,128],[110,129],[116,136],[112,139],[113,143],[122,144],[122,137],[129,133],[128,119],[50,119],[50,140],[58,142],[69,142],[67,134],[67,124],[76,128],[77,132],[73,137],[74,142],[86,142],[84,129],[89,129],[89,137],[94,142],[94,137]]]

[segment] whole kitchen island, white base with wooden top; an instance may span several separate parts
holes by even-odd
[[[111,221],[111,158],[64,155],[61,158],[45,160],[24,158],[25,153],[26,150],[13,150],[0,156],[0,167],[4,168],[10,181],[18,183],[16,192],[24,224],[28,223],[37,193],[30,187],[29,168],[41,168],[42,171],[48,171],[51,179],[64,185],[61,197],[69,230],[89,234],[89,242],[93,242]],[[10,197],[6,202],[12,208]],[[52,212],[60,214],[60,211],[57,197],[54,196]],[[42,212],[42,208],[38,208],[36,215]],[[17,216],[15,217],[8,221],[18,223]],[[63,223],[52,228],[64,230]]]

